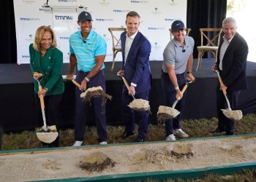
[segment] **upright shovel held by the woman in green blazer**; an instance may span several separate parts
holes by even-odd
[[[42,74],[37,74],[37,76],[41,77]],[[42,85],[40,84],[42,79],[40,81],[38,79],[36,79],[36,80],[38,82],[39,91],[42,91]],[[50,126],[50,127],[48,127],[46,125],[45,102],[44,102],[43,95],[39,95],[39,99],[40,99],[40,105],[41,105],[41,110],[42,110],[42,120],[44,122],[44,125],[42,126],[42,130],[37,130],[37,138],[39,139],[39,141],[42,141],[44,143],[52,143],[53,141],[56,140],[59,133],[57,132],[55,125]]]

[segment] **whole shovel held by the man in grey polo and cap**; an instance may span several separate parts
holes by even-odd
[[[187,90],[187,86],[192,83],[193,81],[187,82],[184,85],[184,87],[181,90],[181,93],[184,94],[185,90]],[[167,119],[172,119],[175,118],[176,116],[178,116],[178,114],[180,114],[180,112],[175,108],[176,104],[178,103],[178,100],[180,100],[180,98],[178,98],[174,103],[172,107],[168,107],[168,106],[159,106],[158,111],[157,111],[157,119],[162,121],[162,120],[167,120]]]

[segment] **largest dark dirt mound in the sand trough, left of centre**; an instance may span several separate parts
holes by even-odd
[[[88,157],[83,157],[80,161],[80,168],[89,172],[102,172],[108,167],[114,167],[116,162],[113,162],[106,154],[97,151]]]

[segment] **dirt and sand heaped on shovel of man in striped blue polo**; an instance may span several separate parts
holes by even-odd
[[[80,98],[84,98],[86,100],[86,102],[90,102],[91,98],[94,98],[95,96],[99,96],[99,95],[103,98],[102,99],[103,103],[106,103],[108,99],[109,100],[112,99],[112,96],[105,93],[102,90],[102,87],[100,87],[100,86],[99,87],[91,87],[91,88],[87,89],[86,92],[81,93]]]

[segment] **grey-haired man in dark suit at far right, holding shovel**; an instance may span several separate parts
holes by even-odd
[[[214,64],[214,70],[219,70],[222,76],[223,84],[217,87],[217,111],[218,127],[213,132],[226,132],[226,135],[234,134],[235,122],[227,118],[221,111],[221,108],[227,108],[222,88],[227,89],[227,98],[230,101],[232,110],[238,109],[238,97],[241,90],[247,88],[246,81],[246,60],[248,55],[248,46],[244,38],[236,32],[236,20],[233,17],[227,17],[222,22],[222,31],[225,33],[219,44],[219,54],[217,63]]]

